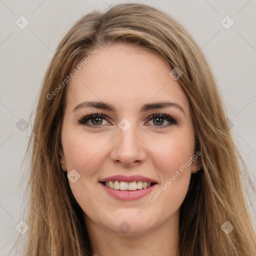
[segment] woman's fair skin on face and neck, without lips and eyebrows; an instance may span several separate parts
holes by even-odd
[[[179,208],[191,173],[200,168],[199,157],[154,201],[149,200],[194,155],[188,99],[169,72],[155,53],[115,44],[100,48],[71,80],[61,131],[62,169],[80,175],[74,183],[68,181],[84,211],[92,255],[179,256]],[[88,106],[73,111],[83,101],[102,101],[115,111]],[[174,106],[139,111],[144,104],[160,101],[175,102],[184,112]],[[106,119],[78,123],[96,112]],[[176,123],[161,117],[149,120],[152,114],[167,114]],[[131,124],[126,131],[118,126],[123,118]],[[99,182],[119,174],[143,175],[157,184],[139,199],[120,200]],[[126,233],[118,228],[123,221],[130,228]]]

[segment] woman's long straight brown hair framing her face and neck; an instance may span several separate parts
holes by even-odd
[[[82,16],[59,42],[47,68],[28,144],[29,199],[23,219],[29,229],[24,234],[24,254],[91,254],[82,209],[60,167],[60,132],[68,88],[63,81],[87,54],[113,43],[152,50],[171,69],[178,67],[183,73],[178,82],[189,100],[202,169],[191,175],[180,207],[180,255],[255,256],[256,235],[246,210],[243,175],[250,179],[231,137],[216,79],[183,26],[166,13],[138,3],[118,4],[106,12]],[[54,90],[54,96],[49,96]],[[221,229],[226,221],[234,227],[228,234]]]

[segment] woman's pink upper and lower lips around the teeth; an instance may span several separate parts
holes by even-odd
[[[151,182],[151,183],[157,183],[155,180],[145,177],[145,176],[141,176],[141,175],[131,175],[131,176],[124,176],[124,175],[114,175],[114,176],[109,176],[106,178],[103,178],[101,180],[99,180],[100,185],[105,189],[105,191],[113,196],[116,199],[119,200],[136,200],[139,199],[143,196],[145,196],[146,194],[150,193],[152,191],[152,189],[154,188],[154,186],[156,184],[153,184],[147,188],[142,188],[142,189],[137,189],[137,190],[133,190],[133,191],[127,191],[127,190],[117,190],[117,189],[113,189],[110,187],[107,187],[103,184],[103,182],[106,181],[123,181],[123,182],[132,182],[132,181],[146,181],[146,182]]]

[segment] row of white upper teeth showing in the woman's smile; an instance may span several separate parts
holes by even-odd
[[[124,181],[106,181],[104,184],[107,187],[116,189],[116,190],[137,190],[137,189],[142,189],[142,188],[147,188],[151,185],[150,182],[146,181],[132,181],[132,182],[124,182]]]

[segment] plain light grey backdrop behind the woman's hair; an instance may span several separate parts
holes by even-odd
[[[25,186],[18,186],[32,127],[31,121],[27,128],[25,123],[53,52],[83,14],[120,2],[127,1],[0,0],[0,255],[7,255],[18,234],[15,226],[22,220],[19,210]],[[133,2],[144,2],[172,15],[200,45],[217,78],[235,143],[255,185],[255,0]],[[16,24],[20,16],[29,22],[24,29]],[[221,23],[223,18],[226,26],[232,20],[234,24],[227,29]],[[24,25],[25,19],[19,23]],[[250,193],[250,199],[252,203],[244,210],[250,210],[255,221],[256,195]]]

